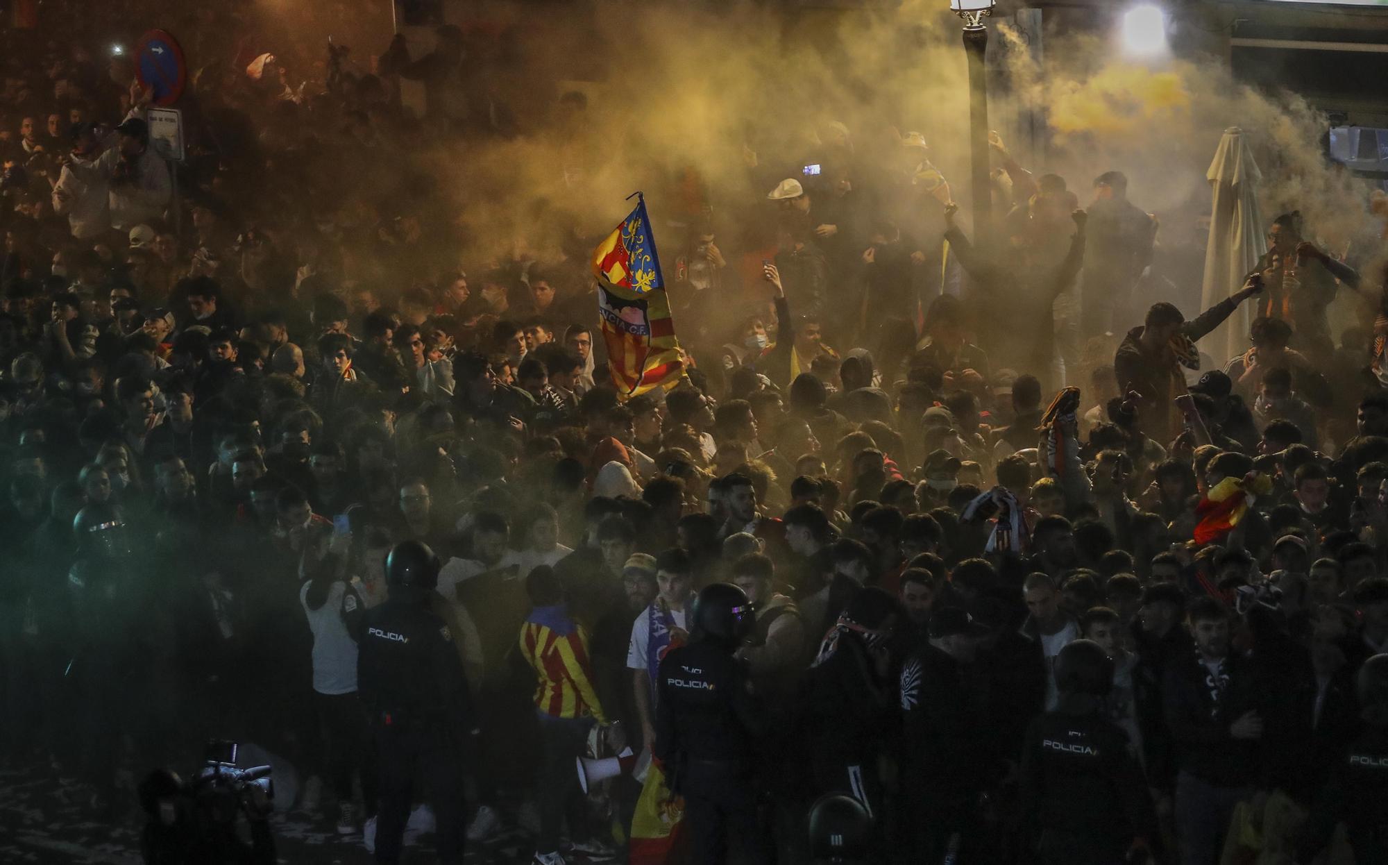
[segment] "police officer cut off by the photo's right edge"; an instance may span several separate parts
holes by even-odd
[[[1363,730],[1351,743],[1306,821],[1298,862],[1310,862],[1345,822],[1356,862],[1388,862],[1388,654],[1359,668]]]

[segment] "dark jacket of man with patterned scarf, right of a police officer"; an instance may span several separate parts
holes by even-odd
[[[1233,651],[1221,675],[1227,678],[1223,687],[1196,654],[1173,661],[1162,682],[1166,725],[1183,772],[1219,787],[1242,787],[1260,776],[1260,747],[1256,740],[1234,739],[1230,726],[1262,708],[1258,679],[1249,662]]]

